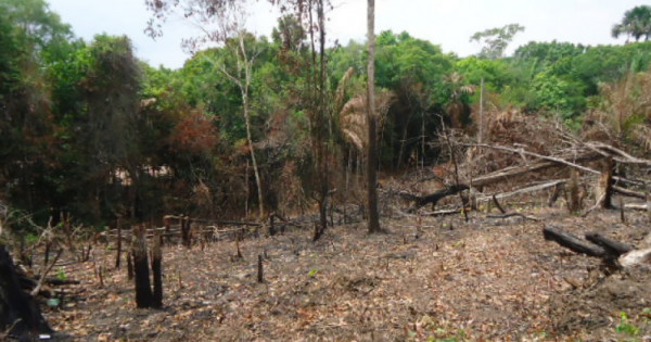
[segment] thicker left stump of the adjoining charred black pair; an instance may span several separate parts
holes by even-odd
[[[133,228],[133,279],[136,282],[136,306],[151,307],[153,295],[149,277],[146,242],[143,227]]]

